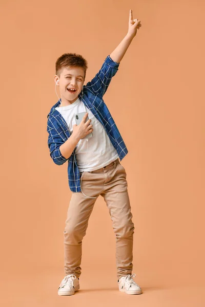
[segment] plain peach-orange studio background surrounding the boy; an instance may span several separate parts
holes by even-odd
[[[62,298],[71,191],[67,163],[55,165],[47,146],[55,61],[80,53],[88,82],[126,35],[130,8],[142,27],[104,100],[129,150],[121,164],[144,293],[118,291],[115,236],[100,197],[83,240],[81,290]],[[204,305],[204,9],[199,0],[1,3],[4,306]]]

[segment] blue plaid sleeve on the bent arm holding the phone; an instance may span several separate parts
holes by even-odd
[[[57,129],[53,127],[52,122],[48,119],[47,124],[47,131],[48,131],[48,147],[50,149],[50,156],[53,162],[57,165],[64,164],[68,159],[66,159],[60,152],[60,145],[64,144],[65,142],[60,138]]]

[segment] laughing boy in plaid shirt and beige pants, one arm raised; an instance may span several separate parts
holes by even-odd
[[[140,27],[140,20],[133,19],[130,10],[127,35],[86,85],[83,83],[88,67],[81,55],[63,54],[56,61],[54,80],[55,85],[59,86],[61,99],[47,116],[48,146],[55,164],[61,165],[68,161],[69,187],[72,192],[64,230],[66,276],[60,282],[58,295],[73,295],[79,290],[82,240],[99,195],[107,203],[116,235],[119,291],[142,293],[133,280],[136,276],[132,274],[135,228],[127,190],[127,174],[120,164],[128,149],[103,100],[120,60]],[[83,119],[76,125],[76,115],[83,112],[86,112]]]

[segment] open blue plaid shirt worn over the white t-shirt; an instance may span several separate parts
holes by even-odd
[[[127,155],[128,149],[122,140],[119,130],[103,100],[103,95],[108,89],[112,77],[118,70],[119,63],[113,61],[108,55],[96,76],[83,86],[78,97],[90,109],[93,115],[104,126],[110,141],[116,149],[120,161]],[[80,192],[80,173],[75,158],[75,150],[66,159],[61,155],[60,145],[64,144],[71,136],[68,125],[61,114],[55,109],[60,105],[60,100],[54,104],[47,115],[48,147],[53,162],[62,165],[68,160],[68,183],[72,192]]]

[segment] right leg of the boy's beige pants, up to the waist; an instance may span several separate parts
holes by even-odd
[[[128,195],[125,168],[117,163],[107,170],[104,197],[116,235],[117,278],[132,274],[134,223]]]

